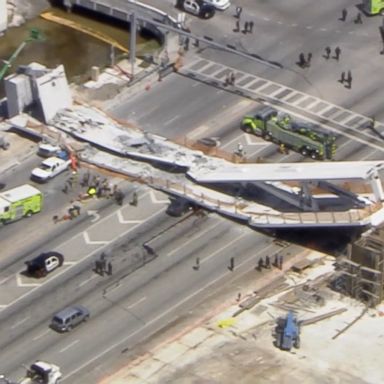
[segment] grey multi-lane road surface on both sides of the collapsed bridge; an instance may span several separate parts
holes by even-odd
[[[358,27],[339,22],[338,12],[347,6],[341,0],[320,9],[316,2],[305,12],[300,12],[302,0],[238,3],[243,20],[255,21],[252,35],[232,31],[234,5],[209,21],[191,18],[192,32],[277,60],[286,70],[267,69],[219,50],[194,50],[181,73],[115,103],[109,112],[172,139],[218,137],[220,148],[228,152],[242,143],[250,161],[308,161],[292,152],[282,155],[275,145],[240,131],[241,117],[258,103],[278,104],[334,132],[337,160],[382,159],[381,139],[366,128],[370,116],[378,121],[384,116],[376,97],[382,85],[380,63],[377,52],[366,46],[376,36],[375,19],[364,19]],[[341,60],[325,60],[323,48],[337,44]],[[373,59],[359,63],[356,47]],[[314,53],[309,69],[295,65],[301,51]],[[352,68],[354,75],[356,68],[351,90],[337,82],[344,68]],[[223,85],[228,70],[237,73],[234,87]],[[26,182],[39,161],[31,158],[2,182],[7,187]],[[138,191],[138,207],[128,199],[122,207],[112,200],[93,201],[80,219],[54,225],[52,216],[79,192],[61,192],[66,177],[42,186],[43,213],[0,230],[0,372],[12,377],[22,374],[22,364],[43,358],[60,365],[65,383],[95,383],[122,353],[133,355],[140,341],[187,313],[208,292],[281,250],[272,238],[214,214],[171,218],[165,213],[167,196],[129,182],[122,186],[127,194]],[[87,215],[87,210],[96,212]],[[46,249],[62,252],[64,266],[44,279],[25,276],[24,262]],[[112,262],[112,276],[92,270],[103,251]],[[231,257],[234,271],[228,269]],[[197,259],[199,268],[194,268]],[[50,318],[71,303],[88,307],[91,318],[59,335],[49,328]]]

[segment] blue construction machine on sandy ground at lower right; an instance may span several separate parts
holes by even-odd
[[[285,318],[279,318],[275,329],[275,345],[283,351],[300,348],[300,325],[295,314],[289,311]]]

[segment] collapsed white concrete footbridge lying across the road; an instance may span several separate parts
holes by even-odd
[[[98,110],[59,112],[53,129],[87,142],[80,158],[255,228],[378,226],[382,161],[235,164],[122,126]]]

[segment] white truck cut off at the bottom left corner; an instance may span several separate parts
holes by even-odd
[[[39,360],[27,368],[26,375],[18,381],[0,375],[0,384],[58,384],[61,376],[60,367]]]

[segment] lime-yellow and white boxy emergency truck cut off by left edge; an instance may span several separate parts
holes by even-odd
[[[0,221],[3,224],[41,211],[43,194],[29,184],[0,193]]]

